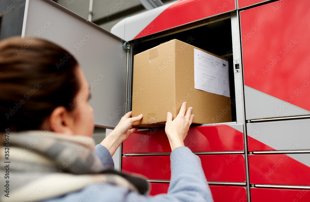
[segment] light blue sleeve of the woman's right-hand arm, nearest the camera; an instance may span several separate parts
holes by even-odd
[[[200,158],[188,147],[177,147],[170,155],[171,179],[167,194],[141,196],[129,192],[126,202],[141,197],[139,202],[213,202],[211,191],[201,167]]]

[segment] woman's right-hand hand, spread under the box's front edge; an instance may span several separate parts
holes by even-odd
[[[189,107],[186,111],[186,104],[186,102],[182,104],[179,114],[173,121],[172,114],[170,112],[167,113],[165,132],[170,143],[171,151],[176,147],[184,146],[184,139],[187,135],[189,126],[193,122],[193,108]]]

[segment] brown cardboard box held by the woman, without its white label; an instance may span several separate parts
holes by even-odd
[[[143,119],[133,125],[163,126],[184,101],[193,107],[193,124],[232,121],[229,97],[195,89],[194,48],[204,51],[173,39],[134,56],[132,116]]]

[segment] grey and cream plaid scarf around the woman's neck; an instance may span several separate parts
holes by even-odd
[[[141,194],[148,191],[144,179],[104,168],[93,154],[95,142],[90,137],[47,130],[9,132],[7,146],[0,148],[0,201],[47,200],[95,183],[125,186]]]

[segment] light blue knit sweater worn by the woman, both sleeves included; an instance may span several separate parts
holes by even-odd
[[[103,165],[114,168],[112,156],[107,148],[96,145],[95,155]],[[210,188],[201,167],[200,158],[188,147],[177,147],[170,154],[171,179],[167,194],[156,196],[139,195],[126,187],[112,184],[93,184],[67,195],[45,200],[45,202],[213,202]]]

